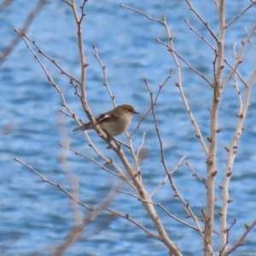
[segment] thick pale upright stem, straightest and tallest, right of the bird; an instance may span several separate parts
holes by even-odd
[[[186,0],[188,3],[188,0]],[[218,49],[215,53],[213,61],[213,75],[214,75],[214,90],[212,91],[212,106],[210,110],[210,135],[207,138],[209,141],[207,154],[207,209],[205,213],[205,240],[204,240],[204,255],[214,255],[209,252],[209,245],[213,247],[213,224],[214,224],[214,207],[215,207],[215,177],[217,175],[217,135],[218,135],[218,108],[221,96],[221,82],[223,73],[223,59],[224,59],[224,0],[218,2],[218,38],[212,34],[212,37],[218,44]]]

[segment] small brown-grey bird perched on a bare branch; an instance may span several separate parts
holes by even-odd
[[[108,137],[114,137],[127,131],[134,113],[137,112],[130,105],[120,105],[111,111],[98,115],[96,123],[107,133]],[[73,131],[93,129],[93,125],[89,122],[75,128]]]

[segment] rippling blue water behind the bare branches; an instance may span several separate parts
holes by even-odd
[[[195,3],[193,3],[195,2]],[[148,110],[150,99],[143,82],[144,78],[154,94],[158,85],[165,79],[171,67],[174,68],[172,79],[163,88],[159,102],[155,107],[160,133],[166,154],[166,165],[172,170],[183,155],[194,166],[202,177],[206,176],[205,155],[195,137],[194,127],[190,124],[188,114],[183,108],[175,83],[177,73],[171,55],[166,48],[155,41],[160,38],[166,41],[166,32],[162,26],[147,20],[145,17],[121,9],[119,4],[141,9],[154,18],[166,15],[172,29],[172,37],[176,50],[193,64],[208,79],[212,79],[212,50],[203,44],[201,38],[189,31],[183,21],[190,24],[214,44],[205,27],[198,22],[195,15],[184,1],[89,1],[86,3],[84,17],[84,50],[87,67],[86,89],[88,102],[93,113],[101,113],[112,108],[107,90],[102,85],[102,70],[99,67],[92,44],[96,44],[101,59],[106,65],[108,83],[118,104],[133,105],[139,113]],[[212,1],[192,1],[195,8],[207,20],[214,32],[218,32],[218,16]],[[232,19],[246,8],[250,1],[230,1],[226,6],[226,20]],[[17,0],[0,13],[0,50],[15,36],[13,28],[20,28],[27,13],[33,8],[32,1]],[[247,37],[244,27],[249,31],[255,23],[256,8],[247,11],[226,34],[225,57],[234,63],[232,47],[237,40],[237,49],[241,40]],[[49,1],[33,21],[27,35],[36,40],[37,44],[58,63],[79,77],[79,54],[75,24],[71,9],[62,1]],[[253,38],[255,44],[255,37]],[[215,44],[214,44],[215,46]],[[69,106],[79,118],[86,120],[79,99],[74,96],[73,87],[68,79],[61,75],[49,61],[40,55],[55,83],[61,87]],[[250,77],[255,61],[255,51],[249,46],[245,52],[241,74],[246,80]],[[189,101],[195,119],[201,125],[204,137],[209,135],[209,112],[212,89],[205,81],[188,67],[183,67],[183,90]],[[229,67],[224,68],[224,75]],[[67,190],[71,189],[64,168],[59,159],[62,148],[58,145],[65,141],[61,135],[63,130],[60,122],[59,109],[61,99],[54,87],[49,84],[42,68],[26,49],[20,44],[12,51],[0,69],[0,129],[5,125],[13,127],[9,134],[0,137],[0,253],[3,255],[51,255],[57,245],[64,241],[73,228],[73,212],[70,201],[60,190],[43,183],[38,176],[15,162],[14,158],[24,160],[33,166],[44,177],[54,183],[60,183]],[[218,176],[217,185],[224,177],[226,151],[233,136],[239,111],[236,90],[230,84],[224,91],[219,111],[218,135]],[[243,86],[240,84],[242,92]],[[236,155],[230,197],[229,224],[234,218],[237,223],[230,234],[230,244],[236,242],[244,230],[244,224],[250,224],[255,218],[255,145],[256,145],[256,110],[255,89],[251,95],[251,106],[247,113],[246,130],[242,134]],[[64,109],[64,108],[62,108]],[[135,116],[129,131],[133,131],[140,117]],[[71,146],[83,154],[96,158],[87,145],[82,133],[73,134],[76,126],[73,119],[62,115]],[[140,129],[133,137],[137,148],[143,132],[146,132],[145,147],[148,157],[142,168],[143,183],[148,191],[153,191],[165,177],[160,164],[160,150],[154,131],[152,114],[144,120]],[[106,149],[96,134],[90,136],[96,146],[108,158],[114,158],[113,152]],[[120,136],[125,141],[125,136]],[[130,153],[125,149],[128,158]],[[102,160],[99,160],[101,163]],[[119,162],[118,162],[119,163]],[[94,201],[102,201],[118,180],[89,160],[68,152],[68,166],[79,180],[79,199],[93,205]],[[195,177],[191,176],[188,167],[183,164],[174,175],[177,188],[186,201],[201,216],[201,208],[205,206],[205,189]],[[129,188],[124,187],[123,190]],[[170,212],[193,224],[186,219],[183,205],[173,196],[170,185],[166,185],[154,195],[153,200],[160,202]],[[219,230],[218,211],[221,207],[221,191],[216,188],[216,223]],[[100,201],[100,202],[101,202]],[[98,203],[100,203],[98,202]],[[130,195],[118,195],[111,204],[113,209],[128,213],[148,230],[154,232],[154,225],[141,207],[139,201]],[[84,208],[80,210],[86,215]],[[201,236],[188,227],[178,224],[165,212],[157,209],[162,223],[166,227],[172,241],[178,245],[183,255],[201,255]],[[73,244],[65,255],[167,255],[166,247],[154,239],[147,238],[143,230],[139,230],[123,218],[116,218],[110,224],[109,213],[102,212],[96,222],[84,230],[80,241]],[[102,230],[105,224],[106,228]],[[100,230],[96,235],[91,235]],[[155,232],[154,232],[155,233]],[[247,236],[244,247],[239,247],[234,255],[254,255],[256,242],[255,229]],[[214,236],[215,251],[218,252],[218,236]]]

